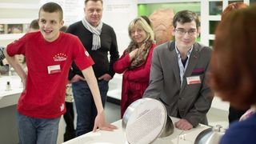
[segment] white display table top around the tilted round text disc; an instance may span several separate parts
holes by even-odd
[[[173,122],[177,122],[178,118],[170,117]],[[122,120],[112,123],[118,126],[118,130],[103,131],[87,133],[79,136],[78,138],[71,139],[62,144],[128,144],[126,142],[126,133],[122,130]],[[195,138],[202,131],[209,128],[209,126],[199,125],[191,130],[178,130],[174,128],[174,133],[166,138],[158,138],[153,144],[192,144]]]

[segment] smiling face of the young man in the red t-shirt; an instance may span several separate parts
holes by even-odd
[[[59,12],[49,13],[41,10],[39,13],[39,29],[47,42],[54,42],[58,38],[63,23]]]

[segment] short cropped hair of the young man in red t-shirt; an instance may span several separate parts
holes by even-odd
[[[63,20],[63,10],[62,10],[62,6],[59,6],[57,3],[55,2],[47,2],[46,4],[42,5],[39,13],[38,13],[38,18],[40,17],[40,12],[41,11],[45,11],[48,13],[54,13],[54,12],[58,12],[60,15],[60,20]]]

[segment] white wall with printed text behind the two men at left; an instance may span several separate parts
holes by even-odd
[[[46,2],[57,2],[62,6],[64,12],[64,25],[69,26],[84,17],[83,0],[0,0],[0,23],[30,23],[38,18],[38,9]],[[102,21],[112,26],[117,34],[118,49],[120,54],[126,49],[130,42],[128,36],[128,25],[137,17],[136,0],[104,0]],[[0,45],[6,46],[14,39],[22,37],[23,34],[2,35]]]

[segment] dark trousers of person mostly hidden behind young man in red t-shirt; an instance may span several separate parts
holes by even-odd
[[[66,122],[64,142],[72,138],[75,138],[73,102],[65,102],[65,104],[66,104],[66,113],[63,115],[64,121]]]

